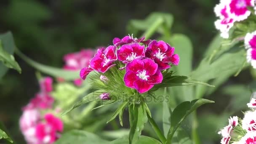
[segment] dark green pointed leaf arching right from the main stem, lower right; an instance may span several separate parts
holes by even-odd
[[[195,99],[193,101],[185,101],[179,104],[171,115],[171,128],[168,132],[167,136],[167,144],[172,140],[173,135],[177,128],[181,125],[181,123],[185,120],[185,118],[193,112],[195,109],[200,107],[203,104],[214,103],[214,101],[210,101],[208,99]]]

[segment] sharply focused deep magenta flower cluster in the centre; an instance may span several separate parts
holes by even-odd
[[[125,67],[118,67],[119,63]],[[99,48],[89,67],[81,69],[80,77],[85,80],[93,70],[104,74],[111,67],[118,67],[125,69],[123,80],[127,87],[145,93],[162,82],[162,70],[178,64],[179,56],[174,54],[174,48],[168,43],[129,35],[122,39],[115,38],[113,45],[107,48]]]

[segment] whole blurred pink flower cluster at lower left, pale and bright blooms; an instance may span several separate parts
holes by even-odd
[[[63,123],[58,117],[51,113],[42,116],[41,113],[53,107],[52,83],[51,77],[41,79],[40,92],[22,109],[19,125],[28,144],[52,144],[63,131]]]

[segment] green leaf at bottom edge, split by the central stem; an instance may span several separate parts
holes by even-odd
[[[107,144],[129,144],[129,139],[128,137],[123,137],[123,138],[111,141]],[[162,143],[148,136],[139,136],[139,140],[137,141],[137,143],[134,143],[134,144],[162,144]]]

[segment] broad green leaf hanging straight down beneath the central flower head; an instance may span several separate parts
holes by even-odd
[[[147,112],[142,104],[135,106],[131,104],[128,109],[130,120],[129,144],[136,144],[144,128],[144,123],[147,123]]]

